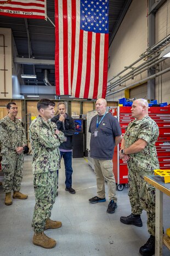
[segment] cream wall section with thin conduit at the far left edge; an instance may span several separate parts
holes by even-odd
[[[4,72],[0,70],[0,99],[12,98],[12,31],[11,29],[0,28],[0,45],[3,45],[3,36],[5,40],[5,78]],[[0,69],[4,69],[4,52],[0,47]],[[5,84],[5,86],[4,86]],[[5,89],[4,89],[5,87]],[[7,92],[6,96],[1,92]]]

